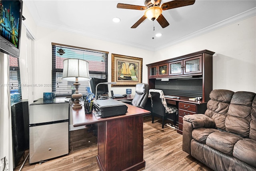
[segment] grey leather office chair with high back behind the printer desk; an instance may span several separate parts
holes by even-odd
[[[139,83],[136,84],[135,87],[135,95],[132,101],[129,100],[120,100],[124,103],[128,103],[134,106],[138,106],[140,108],[144,108],[146,102],[148,100],[148,84],[146,83]]]

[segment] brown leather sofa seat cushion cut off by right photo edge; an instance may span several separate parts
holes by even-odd
[[[237,141],[234,145],[233,156],[256,167],[256,141],[247,138]]]

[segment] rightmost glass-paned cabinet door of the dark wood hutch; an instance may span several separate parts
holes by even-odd
[[[202,73],[202,56],[184,60],[184,74]]]

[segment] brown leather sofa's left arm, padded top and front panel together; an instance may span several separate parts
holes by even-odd
[[[182,129],[182,150],[191,155],[190,143],[192,140],[192,131],[194,128],[210,127],[214,128],[214,120],[204,114],[185,115],[183,117]]]

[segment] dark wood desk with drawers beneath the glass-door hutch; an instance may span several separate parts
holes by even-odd
[[[166,103],[176,105],[178,107],[178,129],[177,132],[182,134],[183,129],[183,117],[184,115],[193,115],[196,113],[204,113],[207,109],[207,102],[202,102],[199,100],[189,100],[188,97],[180,97],[180,99],[176,98],[165,98]]]

